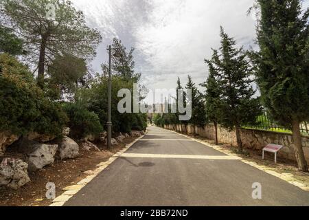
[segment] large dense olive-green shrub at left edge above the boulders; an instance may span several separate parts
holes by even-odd
[[[1,54],[0,131],[61,135],[66,122],[60,104],[45,97],[27,67],[10,55]]]

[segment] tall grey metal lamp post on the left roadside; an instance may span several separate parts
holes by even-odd
[[[111,94],[112,94],[112,85],[111,85],[111,56],[112,50],[116,50],[113,56],[115,58],[122,58],[122,54],[117,52],[119,48],[112,48],[111,45],[108,46],[108,115],[107,115],[107,148],[111,149],[111,138],[112,138],[112,121],[111,121]]]

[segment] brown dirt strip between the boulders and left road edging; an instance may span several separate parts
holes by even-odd
[[[29,173],[30,183],[19,190],[12,190],[0,187],[0,206],[49,206],[52,200],[46,199],[45,188],[48,182],[56,184],[56,197],[62,194],[62,188],[78,183],[78,181],[87,177],[84,172],[94,170],[97,164],[105,162],[113,154],[124,148],[135,140],[134,137],[128,137],[113,150],[107,151],[106,146],[97,144],[102,152],[85,151],[80,148],[80,155],[76,159],[54,162],[52,166],[47,166],[35,173]],[[14,156],[12,153],[8,156]]]

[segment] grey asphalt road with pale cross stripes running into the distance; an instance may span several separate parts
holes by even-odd
[[[262,199],[252,198],[252,184]],[[150,126],[65,206],[309,206],[309,192],[213,148]]]

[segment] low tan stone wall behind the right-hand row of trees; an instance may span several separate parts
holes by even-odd
[[[165,126],[165,129],[174,129],[174,126]],[[207,124],[204,128],[195,127],[196,134],[201,137],[206,137],[209,140],[215,140],[215,130],[213,124]],[[185,125],[177,125],[176,131],[185,133]],[[194,133],[194,126],[187,126],[187,134]],[[279,144],[283,145],[281,151],[278,153],[278,157],[296,160],[293,136],[288,133],[277,133],[272,131],[258,131],[251,129],[242,129],[241,131],[242,143],[244,148],[251,148],[253,150],[261,151],[267,144]],[[309,164],[309,137],[303,137],[303,147],[306,160]],[[235,131],[228,131],[220,126],[218,126],[218,142],[231,144],[232,146],[237,146]]]

